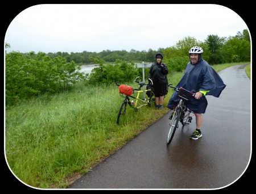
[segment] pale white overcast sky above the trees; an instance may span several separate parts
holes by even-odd
[[[44,4],[20,12],[6,31],[7,52],[157,50],[185,37],[236,36],[249,29],[235,11],[214,4]]]

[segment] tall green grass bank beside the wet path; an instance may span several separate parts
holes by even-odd
[[[233,65],[237,64],[213,68],[219,71]],[[168,82],[175,86],[183,73],[170,72]],[[127,85],[137,87],[135,82]],[[116,121],[123,99],[114,84],[92,87],[79,83],[72,92],[44,95],[7,107],[7,162],[31,187],[66,188],[164,116],[172,92],[170,88],[162,111],[155,110],[154,105],[138,112],[127,107],[120,125]]]

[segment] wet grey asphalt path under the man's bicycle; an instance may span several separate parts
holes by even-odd
[[[193,116],[167,146],[168,113],[68,189],[220,189],[239,180],[251,158],[251,82],[244,65],[219,74],[227,86],[207,96],[202,138],[189,140]]]

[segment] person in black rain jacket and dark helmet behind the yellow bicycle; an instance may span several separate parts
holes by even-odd
[[[162,62],[163,54],[156,53],[156,62],[151,65],[148,78],[153,81],[153,88],[155,94],[155,109],[163,109],[163,99],[168,93],[167,74],[169,73],[167,65]]]

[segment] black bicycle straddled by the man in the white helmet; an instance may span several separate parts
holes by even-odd
[[[185,90],[183,87],[178,88],[171,85],[172,84],[168,85],[168,87],[174,88],[174,90],[178,92],[180,101],[179,101],[179,104],[176,106],[174,112],[172,112],[169,117],[169,119],[171,120],[171,123],[170,123],[170,129],[167,136],[167,145],[171,143],[176,129],[179,128],[179,121],[182,125],[191,123],[192,116],[190,115],[193,112],[185,106],[184,102],[188,101],[189,98],[191,98],[192,96],[195,96],[195,93]]]

